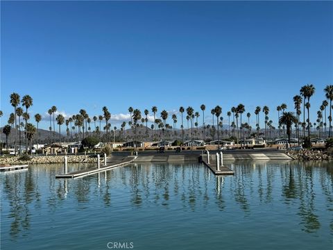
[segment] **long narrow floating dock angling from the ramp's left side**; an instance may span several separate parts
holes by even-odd
[[[125,160],[121,160],[121,161],[111,161],[111,162],[107,162],[106,166],[102,166],[100,168],[91,168],[91,169],[83,169],[83,170],[79,170],[79,171],[75,171],[75,172],[70,172],[68,174],[56,174],[56,178],[78,178],[78,177],[83,177],[83,176],[88,176],[90,174],[97,174],[99,172],[103,172],[106,170],[110,170],[114,167],[120,167],[123,165],[128,165],[133,163],[133,161],[135,160],[135,156],[131,157],[128,156]],[[103,163],[103,161],[101,161],[101,164]]]

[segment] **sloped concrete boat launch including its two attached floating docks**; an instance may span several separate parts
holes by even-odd
[[[97,174],[110,170],[114,167],[121,167],[132,163],[203,163],[209,167],[216,175],[221,174],[234,174],[232,169],[225,167],[223,163],[230,163],[237,160],[251,160],[251,161],[270,161],[270,160],[293,160],[291,157],[283,152],[269,152],[269,153],[229,153],[223,152],[222,156],[219,153],[219,167],[216,163],[216,153],[210,154],[208,160],[206,154],[193,153],[193,154],[152,154],[142,156],[110,156],[105,161],[101,161],[100,166],[94,168],[83,169],[76,172],[67,174],[57,174],[56,178],[78,178],[90,174]],[[96,164],[97,165],[97,164]],[[102,166],[103,165],[103,166]]]

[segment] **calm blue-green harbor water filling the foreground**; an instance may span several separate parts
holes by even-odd
[[[35,165],[1,174],[1,249],[332,249],[332,165]]]

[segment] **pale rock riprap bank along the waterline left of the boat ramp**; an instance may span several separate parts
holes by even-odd
[[[89,156],[67,156],[68,163],[97,163],[97,158]],[[19,157],[2,157],[1,165],[12,164],[49,164],[64,163],[64,156],[32,156],[31,160],[19,160]]]

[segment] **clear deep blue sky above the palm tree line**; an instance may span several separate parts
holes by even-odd
[[[1,1],[1,124],[18,92],[33,115],[108,106],[112,126],[129,106],[220,105],[227,122],[243,103],[254,127],[255,106],[276,123],[307,83],[314,117],[333,82],[332,14],[332,1]]]

